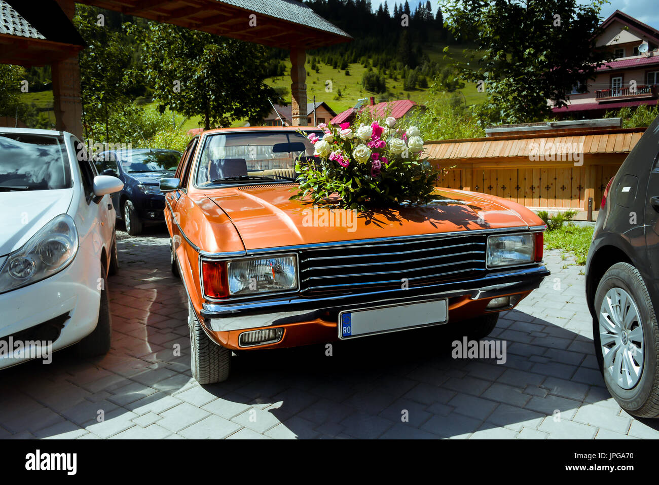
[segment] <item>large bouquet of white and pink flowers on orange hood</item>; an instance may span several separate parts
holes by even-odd
[[[337,194],[342,208],[367,210],[403,202],[426,204],[434,199],[437,173],[421,159],[423,140],[417,127],[396,128],[396,119],[370,125],[339,127],[321,123],[324,134],[302,132],[314,144],[314,157],[300,157],[297,194],[314,204]]]

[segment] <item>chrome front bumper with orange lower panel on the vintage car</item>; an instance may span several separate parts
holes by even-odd
[[[550,271],[545,266],[532,266],[500,270],[477,279],[407,290],[319,298],[295,295],[227,304],[204,303],[199,316],[210,337],[231,349],[244,348],[238,345],[238,337],[243,331],[272,327],[284,330],[283,337],[277,343],[255,345],[249,349],[295,347],[336,340],[337,320],[341,311],[445,298],[449,302],[449,322],[457,322],[484,314],[487,303],[495,297],[519,295],[520,300],[523,299],[548,275]],[[509,308],[512,306],[492,311]]]

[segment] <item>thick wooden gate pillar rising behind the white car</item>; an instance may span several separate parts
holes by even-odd
[[[75,14],[73,0],[57,0],[57,3],[69,18]],[[55,128],[69,131],[82,140],[82,99],[80,98],[80,65],[78,53],[72,57],[57,61],[53,69],[53,98],[55,110]]]

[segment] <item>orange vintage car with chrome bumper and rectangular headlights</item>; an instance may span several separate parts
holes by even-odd
[[[289,200],[295,159],[313,152],[295,128],[208,130],[160,181],[200,384],[228,378],[232,350],[447,322],[484,337],[550,274],[546,226],[502,198],[438,188],[368,215]]]

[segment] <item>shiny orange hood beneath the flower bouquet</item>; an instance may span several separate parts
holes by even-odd
[[[297,186],[225,188],[206,196],[231,218],[247,250],[528,227],[527,221],[533,217],[504,206],[507,201],[503,199],[447,189],[438,189],[438,199],[427,206],[375,210],[372,214],[334,210],[332,217],[328,210],[314,208],[310,201],[289,200],[294,190]],[[523,206],[519,210],[528,212]],[[337,217],[339,213],[341,217]]]

